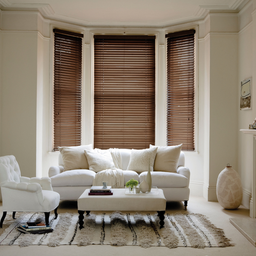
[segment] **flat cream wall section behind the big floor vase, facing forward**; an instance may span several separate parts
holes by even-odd
[[[209,185],[211,190],[215,190],[218,175],[228,163],[237,170],[238,43],[236,34],[214,34],[210,37]],[[213,200],[213,196],[210,195],[209,199]]]

